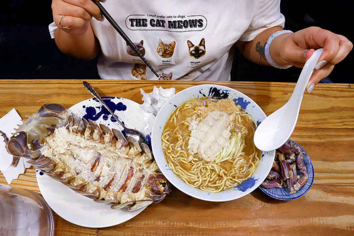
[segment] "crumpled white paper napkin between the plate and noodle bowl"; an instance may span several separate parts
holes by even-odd
[[[140,108],[156,116],[161,107],[175,95],[175,91],[175,88],[163,89],[161,86],[159,88],[154,86],[151,93],[145,93],[144,90],[140,89],[144,101],[144,103],[140,105]]]

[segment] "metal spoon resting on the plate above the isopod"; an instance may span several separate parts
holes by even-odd
[[[114,119],[116,121],[118,121],[118,123],[124,128],[126,136],[131,136],[131,137],[135,138],[139,144],[146,143],[145,136],[141,132],[137,131],[136,129],[127,128],[127,127],[125,127],[125,125],[122,122],[120,122],[120,120],[113,113],[113,111],[111,109],[109,109],[107,104],[105,104],[103,102],[102,98],[98,95],[97,91],[92,87],[92,85],[90,85],[86,81],[83,81],[82,84],[84,84],[85,88],[93,95],[93,97],[95,97],[97,100],[99,100],[99,102],[102,103],[102,105],[109,111],[109,113],[112,114]]]

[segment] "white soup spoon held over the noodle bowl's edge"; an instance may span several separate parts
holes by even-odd
[[[275,150],[290,138],[296,126],[306,85],[322,52],[323,48],[316,50],[306,61],[289,101],[265,118],[256,129],[253,141],[259,150]]]

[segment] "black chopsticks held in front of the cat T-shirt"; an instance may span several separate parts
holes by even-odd
[[[102,15],[107,19],[107,21],[113,26],[113,28],[122,36],[122,38],[129,44],[131,48],[133,48],[134,52],[136,52],[139,57],[143,60],[143,62],[150,68],[150,70],[156,75],[156,77],[160,77],[160,75],[156,72],[156,70],[152,67],[152,65],[146,60],[146,58],[139,52],[138,48],[133,44],[133,42],[129,39],[129,37],[124,33],[124,31],[119,27],[117,22],[109,15],[108,11],[102,6],[101,2],[92,0],[101,10]]]

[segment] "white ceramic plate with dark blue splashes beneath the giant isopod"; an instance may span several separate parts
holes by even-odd
[[[120,121],[129,128],[135,128],[150,134],[154,116],[142,111],[139,104],[125,98],[102,97],[104,102],[118,116]],[[122,130],[117,122],[110,120],[111,115],[96,99],[84,100],[68,109],[79,117],[104,123],[110,128]],[[127,208],[111,209],[110,205],[94,202],[77,194],[62,183],[48,177],[41,171],[36,171],[36,177],[42,196],[48,205],[63,219],[80,226],[102,228],[123,223],[145,208],[129,212]]]

